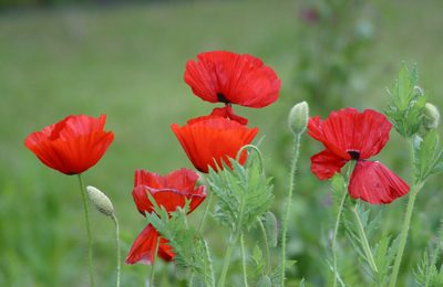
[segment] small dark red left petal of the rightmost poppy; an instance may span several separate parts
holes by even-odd
[[[311,171],[320,180],[327,180],[340,172],[347,160],[326,149],[311,157]]]

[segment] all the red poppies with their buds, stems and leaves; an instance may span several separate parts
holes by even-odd
[[[299,188],[301,138],[307,132],[323,146],[310,158],[310,170],[318,179],[329,180],[332,190],[334,224],[327,240],[327,283],[398,286],[415,198],[429,177],[443,171],[443,148],[436,131],[440,113],[426,102],[415,68],[409,72],[402,66],[389,92],[391,102],[385,115],[369,108],[343,107],[321,119],[310,117],[307,102],[290,109],[287,132],[293,137],[293,149],[285,208],[277,214],[271,208],[275,192],[280,191],[275,191],[272,178],[267,176],[259,145],[253,144],[259,129],[248,127],[248,119],[234,110],[235,105],[264,108],[276,102],[281,85],[276,72],[255,56],[213,51],[200,53],[197,61],[190,60],[184,79],[194,95],[222,107],[214,107],[209,115],[192,118],[182,127],[171,126],[177,144],[199,173],[185,168],[166,176],[135,170],[134,212],[145,217],[146,225],[134,236],[126,264],[151,265],[150,286],[156,286],[158,259],[173,263],[177,277],[188,286],[292,286],[287,269],[296,261],[287,255],[291,241],[288,224],[292,196]],[[69,116],[25,139],[25,146],[44,164],[64,174],[79,174],[89,234],[91,286],[92,233],[80,174],[93,167],[113,141],[114,135],[104,131],[104,124],[105,116]],[[370,160],[382,155],[392,128],[409,144],[412,180],[403,179],[402,171]],[[94,206],[115,223],[120,286],[120,226],[114,205],[99,189],[86,190]],[[409,203],[400,233],[380,234],[384,214],[373,205],[388,205],[402,196],[408,196]],[[198,223],[193,222],[196,209],[204,209]],[[226,246],[224,256],[214,252],[214,242],[205,236],[207,217],[228,230],[228,235],[219,238]],[[443,281],[439,266],[442,234],[424,251],[414,269],[421,286],[439,286]],[[352,254],[347,254],[346,244],[352,246]],[[239,256],[233,256],[235,252]],[[348,256],[362,263],[361,267],[346,263],[343,257]],[[240,275],[233,270],[235,264],[239,265]],[[305,286],[303,278],[300,286]]]

